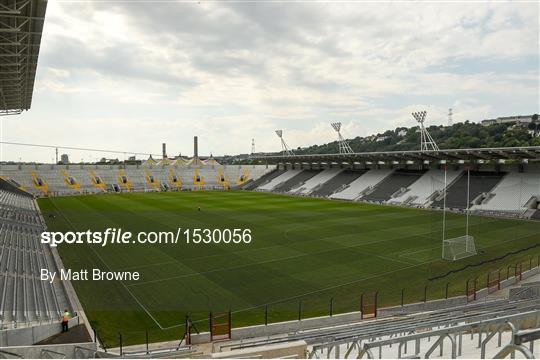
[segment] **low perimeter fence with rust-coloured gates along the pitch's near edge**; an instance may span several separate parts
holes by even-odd
[[[317,317],[334,317],[340,314],[358,312],[358,320],[374,318],[378,310],[384,307],[399,307],[414,303],[427,303],[452,297],[465,296],[467,301],[476,300],[476,294],[487,289],[487,294],[499,290],[501,282],[514,278],[516,283],[522,274],[534,268],[540,268],[540,255],[530,256],[516,263],[499,264],[499,267],[487,272],[476,272],[466,281],[429,282],[415,286],[399,287],[394,290],[366,289],[358,296],[331,296],[329,298],[302,298],[294,301],[265,304],[251,309],[224,308],[214,312],[196,311],[185,314],[186,322],[167,329],[148,327],[145,330],[122,329],[117,332],[104,331],[93,326],[93,338],[106,351],[114,349],[114,353],[126,354],[132,345],[138,345],[137,351],[150,353],[161,349],[162,344],[176,344],[185,349],[191,343],[191,337],[198,333],[210,333],[209,339],[223,340],[230,338],[231,330],[245,326],[268,326],[281,322],[294,322]],[[326,306],[322,306],[325,304]],[[361,310],[365,314],[361,314]],[[178,314],[171,314],[178,315]],[[188,326],[189,322],[189,326]],[[219,325],[219,333],[212,335],[211,329]],[[92,324],[93,325],[93,324]],[[218,336],[216,336],[218,335]],[[126,349],[130,346],[130,349]]]

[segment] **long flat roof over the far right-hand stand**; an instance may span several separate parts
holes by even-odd
[[[412,150],[412,151],[379,151],[352,154],[305,154],[305,155],[252,155],[252,159],[269,162],[460,162],[460,161],[497,161],[497,160],[531,160],[540,161],[540,146],[480,148],[480,149],[448,149],[448,150]]]

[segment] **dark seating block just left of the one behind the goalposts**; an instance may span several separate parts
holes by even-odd
[[[406,189],[425,173],[425,170],[396,170],[377,184],[362,200],[384,202]]]

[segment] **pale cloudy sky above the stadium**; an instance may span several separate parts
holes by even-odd
[[[55,1],[30,111],[2,139],[160,153],[279,150],[539,112],[539,5]],[[4,160],[52,151],[3,146]],[[102,155],[69,152],[72,160]]]

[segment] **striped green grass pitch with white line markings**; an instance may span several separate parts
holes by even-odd
[[[74,270],[135,270],[133,282],[73,282],[92,325],[109,346],[179,339],[190,312],[208,328],[208,311],[233,311],[233,326],[359,310],[362,292],[381,305],[463,295],[465,281],[534,256],[540,248],[444,276],[540,242],[540,223],[472,217],[477,256],[441,260],[442,213],[252,192],[169,192],[40,199],[50,230],[131,232],[249,228],[250,244],[62,245]],[[201,211],[197,207],[201,207]],[[57,214],[49,218],[50,213]],[[447,237],[465,233],[465,217],[447,214]],[[437,280],[430,280],[434,277]]]

